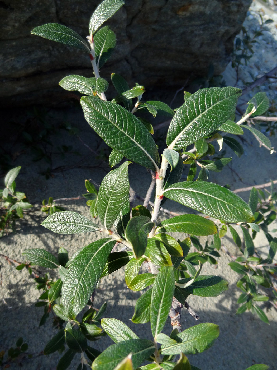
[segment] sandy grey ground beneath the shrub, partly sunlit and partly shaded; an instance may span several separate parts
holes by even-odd
[[[273,61],[273,63],[276,63],[276,61]],[[230,77],[230,73],[228,73],[228,76]],[[24,117],[22,118],[24,119]],[[80,129],[80,138],[83,142],[89,145],[90,148],[96,147],[98,139],[85,122],[81,108],[52,110],[49,112],[48,118],[54,123],[62,120],[70,122]],[[242,157],[238,158],[233,152],[227,150],[225,157],[233,157],[230,166],[226,166],[219,174],[211,173],[209,181],[220,185],[229,184],[231,189],[235,190],[276,179],[276,153],[270,155],[267,149],[259,148],[259,144],[251,134],[247,133],[243,137],[246,141],[243,143],[244,154]],[[59,247],[62,246],[68,250],[69,256],[71,256],[82,246],[88,245],[99,238],[96,233],[57,235],[40,226],[45,218],[45,215],[39,211],[42,199],[49,196],[58,199],[82,195],[85,192],[85,179],[92,179],[96,184],[100,184],[106,174],[98,166],[101,159],[96,158],[95,154],[84,146],[78,138],[62,134],[60,137],[55,135],[51,140],[54,148],[57,145],[73,145],[73,150],[78,151],[80,156],[68,154],[63,159],[55,155],[53,158],[54,167],[65,167],[60,172],[58,170],[54,172],[54,176],[48,180],[38,174],[42,169],[47,168],[47,164],[42,161],[32,162],[30,152],[27,151],[25,155],[21,155],[14,162],[14,166],[22,166],[16,181],[17,190],[24,191],[28,195],[29,201],[34,205],[34,211],[17,223],[16,232],[9,233],[0,239],[1,253],[18,261],[24,261],[22,252],[28,248],[45,248],[49,252],[57,254]],[[277,148],[277,138],[272,137],[271,141],[272,145]],[[103,147],[103,158],[105,157],[105,150]],[[79,162],[81,159],[83,160]],[[69,166],[72,165],[73,168],[70,169]],[[131,187],[137,194],[144,196],[151,182],[146,169],[134,164],[129,167],[129,171]],[[247,201],[249,192],[242,192],[240,196]],[[83,200],[62,201],[59,204],[68,210],[90,217],[89,208]],[[170,211],[188,212],[188,209],[173,201],[167,201],[164,206]],[[161,219],[163,218],[165,218],[165,215],[161,213]],[[97,219],[96,222],[98,222]],[[272,226],[272,228],[274,227],[276,228],[276,225]],[[223,244],[231,254],[238,255],[238,250],[234,246],[230,235],[225,236]],[[255,245],[261,253],[266,253],[268,243],[261,233],[257,236]],[[277,312],[274,309],[267,311],[270,320],[269,326],[250,313],[239,316],[235,314],[237,310],[236,300],[240,294],[236,287],[238,275],[227,265],[230,262],[230,257],[223,251],[220,254],[218,265],[211,266],[206,263],[201,274],[224,277],[229,282],[229,290],[214,298],[196,296],[189,296],[188,298],[189,305],[201,318],[199,322],[219,324],[220,336],[211,349],[202,354],[189,356],[189,359],[192,364],[202,370],[244,370],[255,363],[268,364],[270,369],[274,370],[276,369]],[[55,329],[52,326],[52,316],[48,318],[44,326],[39,327],[43,309],[34,305],[38,302],[41,292],[35,289],[33,279],[26,270],[17,271],[13,265],[9,265],[3,259],[0,260],[0,266],[3,277],[1,294],[7,302],[7,305],[4,304],[3,300],[0,303],[0,350],[15,346],[16,340],[23,337],[24,341],[29,344],[28,353],[32,353],[34,358],[24,359],[22,368],[28,370],[55,369],[61,355],[58,353],[49,356],[41,354],[49,338],[55,334]],[[40,271],[43,272],[42,269]],[[55,272],[50,271],[49,274],[53,278],[56,277]],[[100,280],[96,291],[95,306],[99,308],[106,301],[105,317],[116,317],[128,324],[138,335],[151,339],[149,323],[135,325],[130,321],[133,316],[134,305],[140,294],[140,292],[132,292],[126,289],[123,268]],[[195,324],[195,320],[188,314],[187,310],[183,309],[183,329]],[[169,322],[165,326],[165,333],[170,333]],[[112,341],[105,337],[93,343],[93,346],[101,350],[107,344],[112,344]],[[78,356],[76,355],[69,369],[76,369],[79,363]],[[18,365],[16,364],[10,367],[10,369],[17,368]]]

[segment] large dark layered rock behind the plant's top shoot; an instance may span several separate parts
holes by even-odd
[[[215,74],[226,67],[251,0],[126,0],[107,22],[117,47],[102,77],[122,74],[130,83],[181,86],[188,76]],[[87,54],[31,35],[57,22],[86,37],[99,0],[0,1],[0,97],[2,105],[72,97],[59,80],[76,73],[90,77]]]

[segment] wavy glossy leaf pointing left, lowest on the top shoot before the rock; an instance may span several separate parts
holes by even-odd
[[[68,91],[79,91],[81,94],[95,96],[107,91],[109,83],[104,78],[86,78],[78,74],[71,74],[59,81],[59,85]]]

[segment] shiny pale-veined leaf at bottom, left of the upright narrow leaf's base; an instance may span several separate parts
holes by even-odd
[[[105,317],[101,320],[101,326],[114,343],[124,342],[128,339],[138,339],[137,334],[120,320]]]

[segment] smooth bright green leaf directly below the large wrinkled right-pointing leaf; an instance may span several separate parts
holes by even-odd
[[[180,182],[179,184],[183,184]],[[175,185],[179,185],[175,184]],[[186,184],[186,182],[185,182]],[[168,188],[170,189],[170,188]],[[170,196],[168,196],[170,198]],[[172,198],[170,198],[172,199]],[[175,200],[175,199],[173,199]],[[206,236],[217,232],[212,221],[199,215],[180,215],[166,219],[159,223],[155,232],[185,232],[187,234]]]

